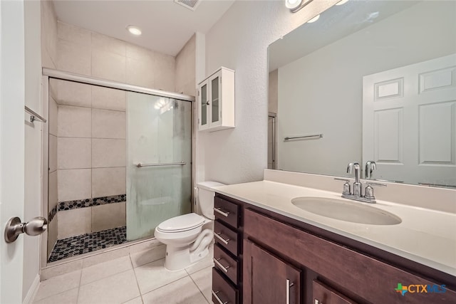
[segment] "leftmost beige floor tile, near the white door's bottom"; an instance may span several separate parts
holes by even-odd
[[[55,276],[46,281],[41,281],[38,292],[35,295],[36,301],[57,295],[63,291],[77,288],[81,281],[81,270],[72,271],[61,276]]]

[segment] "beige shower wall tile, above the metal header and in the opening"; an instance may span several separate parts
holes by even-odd
[[[176,56],[58,21],[41,1],[43,67],[195,95],[195,36]],[[53,80],[48,253],[58,239],[125,224],[125,202],[56,211],[58,201],[125,194],[125,93]],[[58,231],[58,232],[57,232]]]

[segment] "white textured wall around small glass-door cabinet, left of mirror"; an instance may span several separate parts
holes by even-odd
[[[236,127],[199,138],[204,161],[198,166],[204,166],[204,179],[233,184],[263,178],[267,165],[267,48],[335,2],[314,1],[292,14],[284,1],[235,1],[207,33],[206,75],[219,66],[236,71]]]

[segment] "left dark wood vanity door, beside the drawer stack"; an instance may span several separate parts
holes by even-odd
[[[301,303],[301,271],[244,240],[244,303]]]

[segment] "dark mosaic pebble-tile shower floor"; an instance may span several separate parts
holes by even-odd
[[[127,229],[125,226],[61,239],[54,246],[51,256],[48,258],[48,263],[108,248],[126,241]]]

